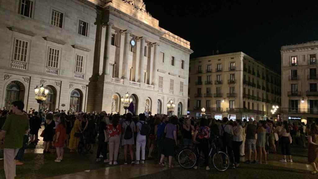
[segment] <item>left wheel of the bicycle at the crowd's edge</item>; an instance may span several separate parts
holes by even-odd
[[[183,149],[178,154],[178,163],[182,168],[193,168],[197,161],[196,154],[191,149]]]

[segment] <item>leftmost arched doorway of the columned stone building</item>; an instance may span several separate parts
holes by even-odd
[[[24,85],[19,81],[12,81],[7,85],[4,107],[7,110],[11,110],[11,103],[14,101],[24,102]]]

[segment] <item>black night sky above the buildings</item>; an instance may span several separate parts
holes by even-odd
[[[278,3],[279,2],[279,3]],[[280,47],[318,40],[318,2],[144,0],[159,25],[200,57],[242,51],[280,72]],[[303,5],[302,5],[303,4]]]

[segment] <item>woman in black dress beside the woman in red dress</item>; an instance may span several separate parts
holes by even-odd
[[[44,150],[43,153],[51,153],[50,152],[50,146],[51,146],[51,142],[53,141],[53,136],[55,133],[55,129],[53,129],[55,127],[55,122],[53,121],[53,114],[52,113],[48,113],[46,115],[46,120],[44,122],[44,132],[43,132],[43,140],[44,140]]]

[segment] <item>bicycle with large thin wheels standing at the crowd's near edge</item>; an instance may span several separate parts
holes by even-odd
[[[209,161],[213,163],[214,168],[216,168],[218,171],[227,170],[230,166],[230,159],[226,153],[219,151],[219,148],[216,145],[218,142],[217,140],[218,138],[212,140],[212,143],[209,147],[210,152],[208,156],[201,156],[197,146],[194,147],[194,149],[182,149],[177,156],[179,165],[182,168],[190,169],[196,165],[198,159],[204,160],[209,158]]]

